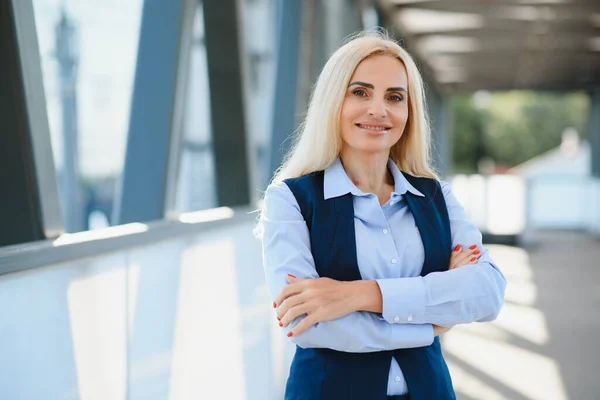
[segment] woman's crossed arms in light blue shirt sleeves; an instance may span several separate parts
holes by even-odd
[[[421,347],[431,344],[442,330],[435,325],[496,318],[504,297],[504,277],[449,187],[443,188],[453,245],[466,248],[476,243],[482,250],[479,260],[426,277],[354,282],[318,276],[308,229],[293,194],[283,183],[267,189],[265,274],[278,319],[293,342],[347,352]],[[460,254],[469,253],[456,252]]]

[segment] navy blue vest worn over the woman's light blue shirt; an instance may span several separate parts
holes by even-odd
[[[421,276],[448,269],[452,240],[448,210],[440,184],[404,173],[425,197],[406,192],[406,199],[425,248]],[[323,171],[286,179],[310,231],[320,277],[362,279],[356,258],[352,194],[324,200]],[[455,399],[439,338],[426,347],[374,353],[346,353],[296,346],[286,385],[286,400],[385,400],[388,374],[396,359],[411,400]]]

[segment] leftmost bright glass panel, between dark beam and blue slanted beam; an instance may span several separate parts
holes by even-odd
[[[65,227],[103,227],[123,169],[143,0],[33,6]]]

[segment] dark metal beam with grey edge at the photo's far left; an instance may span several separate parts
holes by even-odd
[[[33,7],[0,1],[0,246],[64,232]]]

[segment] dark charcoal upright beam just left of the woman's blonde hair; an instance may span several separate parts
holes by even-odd
[[[238,3],[238,0],[203,2],[215,180],[220,206],[249,204],[251,198]]]

